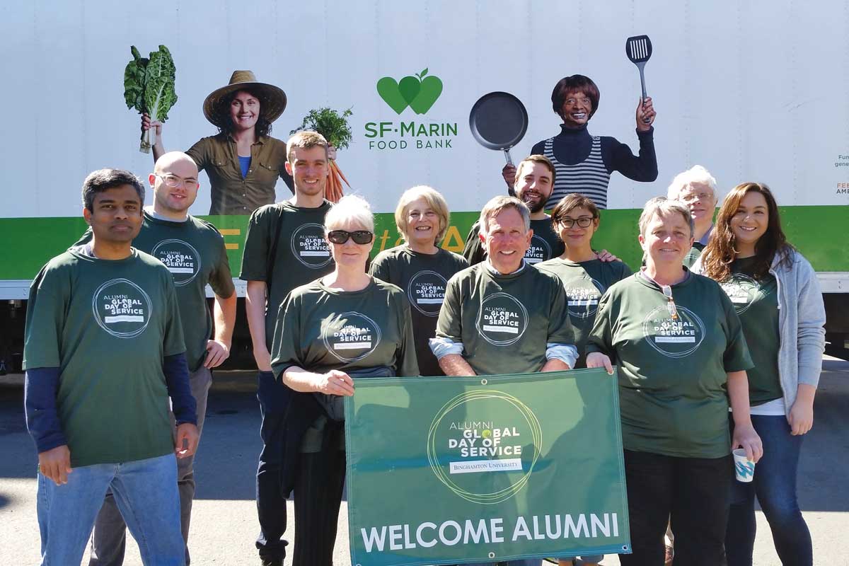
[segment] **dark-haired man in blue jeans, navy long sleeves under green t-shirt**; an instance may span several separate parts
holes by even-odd
[[[115,490],[132,532],[148,537],[143,563],[177,566],[185,545],[175,454],[192,456],[199,434],[175,286],[160,261],[132,247],[143,221],[137,177],[93,171],[83,201],[91,242],[49,261],[27,306],[42,563],[80,563]]]

